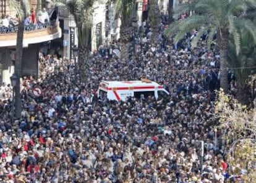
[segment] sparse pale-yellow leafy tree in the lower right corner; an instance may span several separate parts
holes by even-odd
[[[215,105],[215,118],[222,129],[226,159],[234,174],[244,171],[245,182],[256,180],[256,110],[249,110],[232,96],[219,92]]]

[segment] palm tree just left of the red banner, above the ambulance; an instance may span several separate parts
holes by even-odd
[[[129,47],[132,45],[134,29],[132,27],[132,18],[134,18],[135,1],[134,0],[114,0],[116,7],[115,14],[121,19],[120,40],[121,57],[124,62],[129,60]]]

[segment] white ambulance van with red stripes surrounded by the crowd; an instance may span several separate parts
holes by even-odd
[[[100,99],[107,97],[109,100],[123,100],[127,97],[140,98],[142,95],[148,96],[169,96],[169,92],[158,83],[150,81],[149,79],[142,79],[141,81],[101,81],[97,91]]]

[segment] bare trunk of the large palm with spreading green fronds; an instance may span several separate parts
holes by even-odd
[[[218,35],[220,43],[220,86],[225,93],[229,90],[228,83],[228,36],[229,34],[223,31],[222,37]]]

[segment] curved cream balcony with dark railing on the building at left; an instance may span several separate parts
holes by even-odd
[[[29,25],[24,28],[23,47],[29,44],[42,43],[61,38],[59,22],[49,22],[43,25]],[[0,47],[16,46],[17,26],[11,28],[0,27]]]

